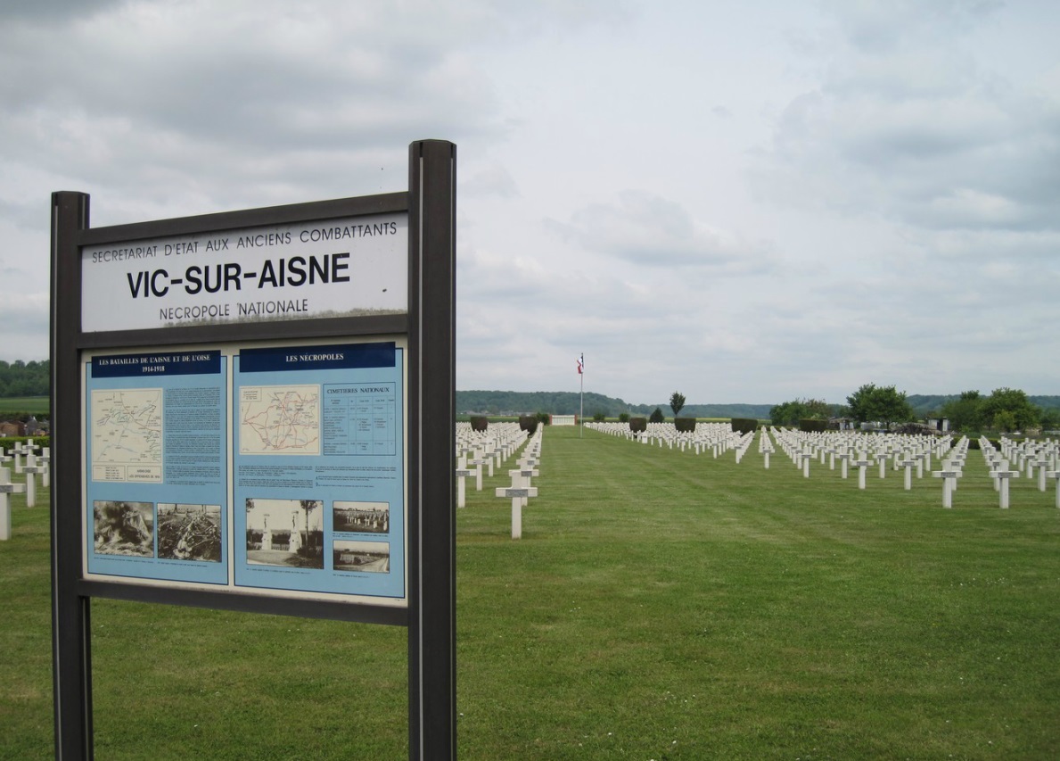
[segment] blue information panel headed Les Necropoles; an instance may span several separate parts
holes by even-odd
[[[234,584],[405,598],[404,350],[232,358]]]

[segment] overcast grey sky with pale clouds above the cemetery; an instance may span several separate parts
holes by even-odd
[[[6,0],[0,359],[93,226],[457,144],[457,387],[1060,394],[1060,3]]]

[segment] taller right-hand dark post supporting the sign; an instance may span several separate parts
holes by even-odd
[[[409,759],[457,757],[456,724],[456,145],[409,145]],[[417,486],[418,485],[418,486]]]

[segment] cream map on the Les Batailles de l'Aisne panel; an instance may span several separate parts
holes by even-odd
[[[92,465],[161,466],[162,390],[92,392]]]

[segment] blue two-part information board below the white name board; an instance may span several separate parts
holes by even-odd
[[[404,360],[393,341],[93,354],[88,576],[404,604]]]

